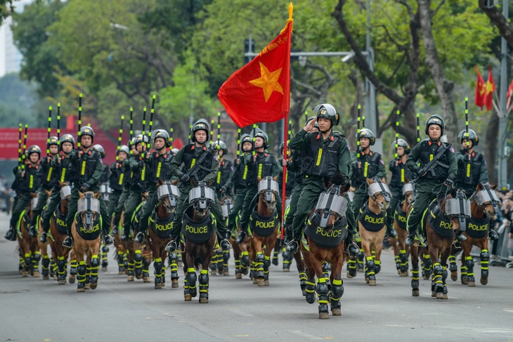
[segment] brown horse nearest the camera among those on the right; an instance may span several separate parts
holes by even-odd
[[[431,297],[448,299],[447,259],[453,245],[454,230],[470,216],[470,203],[462,190],[452,189],[439,193],[424,210],[421,223],[427,239],[429,259],[433,265],[431,274]],[[412,296],[419,296],[418,249],[410,249],[412,256]]]

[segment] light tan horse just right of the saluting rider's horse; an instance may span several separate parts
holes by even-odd
[[[381,270],[386,214],[392,196],[387,183],[378,178],[368,178],[367,185],[369,200],[360,209],[358,230],[365,253],[365,282],[376,286],[376,275]]]

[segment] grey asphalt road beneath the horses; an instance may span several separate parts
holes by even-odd
[[[3,238],[7,226],[0,213],[0,341],[513,341],[511,268],[491,267],[486,286],[449,280],[447,301],[431,298],[421,280],[414,298],[410,277],[399,277],[384,251],[376,287],[361,273],[346,279],[344,265],[342,317],[319,320],[318,304],[306,303],[294,264],[283,272],[281,256],[269,287],[235,279],[231,258],[231,275],[210,276],[209,303],[200,304],[185,302],[169,278],[160,290],[127,282],[111,250],[98,289],[77,293],[77,284],[23,278],[17,244]]]

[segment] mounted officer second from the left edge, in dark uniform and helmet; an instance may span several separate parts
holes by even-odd
[[[44,206],[46,206],[46,199],[48,199],[46,191],[50,191],[58,185],[57,178],[53,177],[55,175],[55,170],[53,169],[51,162],[59,153],[59,140],[56,136],[51,136],[46,145],[50,154],[41,159],[41,162],[39,163],[41,166],[41,186],[38,191],[39,195],[37,196],[37,206],[32,209],[32,223],[29,228],[29,234],[33,237],[37,235],[37,230],[39,230],[37,218],[41,215],[41,211],[43,211]]]

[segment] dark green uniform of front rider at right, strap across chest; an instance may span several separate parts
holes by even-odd
[[[410,171],[417,173],[420,167],[427,165],[436,154],[438,154],[437,151],[441,148],[442,144],[446,145],[447,149],[441,159],[439,159],[439,162],[416,181],[417,197],[415,197],[413,209],[410,211],[407,221],[409,234],[413,234],[417,231],[422,213],[429,203],[436,198],[436,193],[446,192],[448,190],[443,183],[447,179],[455,180],[457,159],[454,154],[454,149],[450,144],[441,143],[440,141],[433,143],[431,140],[426,139],[413,147],[412,152],[410,152],[406,160],[406,167],[408,167]],[[417,162],[420,162],[420,166],[417,165]]]

